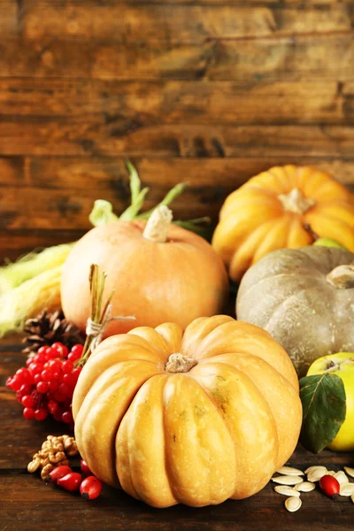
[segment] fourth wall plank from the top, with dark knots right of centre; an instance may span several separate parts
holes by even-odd
[[[350,158],[353,153],[353,128],[347,126],[149,126],[144,119],[7,117],[0,120],[0,156]]]

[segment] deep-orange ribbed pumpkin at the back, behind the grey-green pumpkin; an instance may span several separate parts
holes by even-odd
[[[212,246],[234,281],[272,250],[311,244],[313,233],[353,252],[353,197],[315,168],[273,167],[227,197]]]

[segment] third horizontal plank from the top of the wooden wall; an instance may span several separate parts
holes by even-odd
[[[185,124],[352,124],[354,83],[284,81],[101,81],[0,79],[3,121],[40,125],[44,117],[114,127],[142,120],[145,126]],[[6,118],[5,118],[6,116]],[[33,119],[32,119],[33,117]]]

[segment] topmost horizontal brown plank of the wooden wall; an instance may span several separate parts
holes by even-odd
[[[43,17],[45,13],[45,17]],[[353,13],[345,4],[291,6],[53,3],[23,0],[21,35],[113,42],[201,44],[208,38],[350,33]]]

